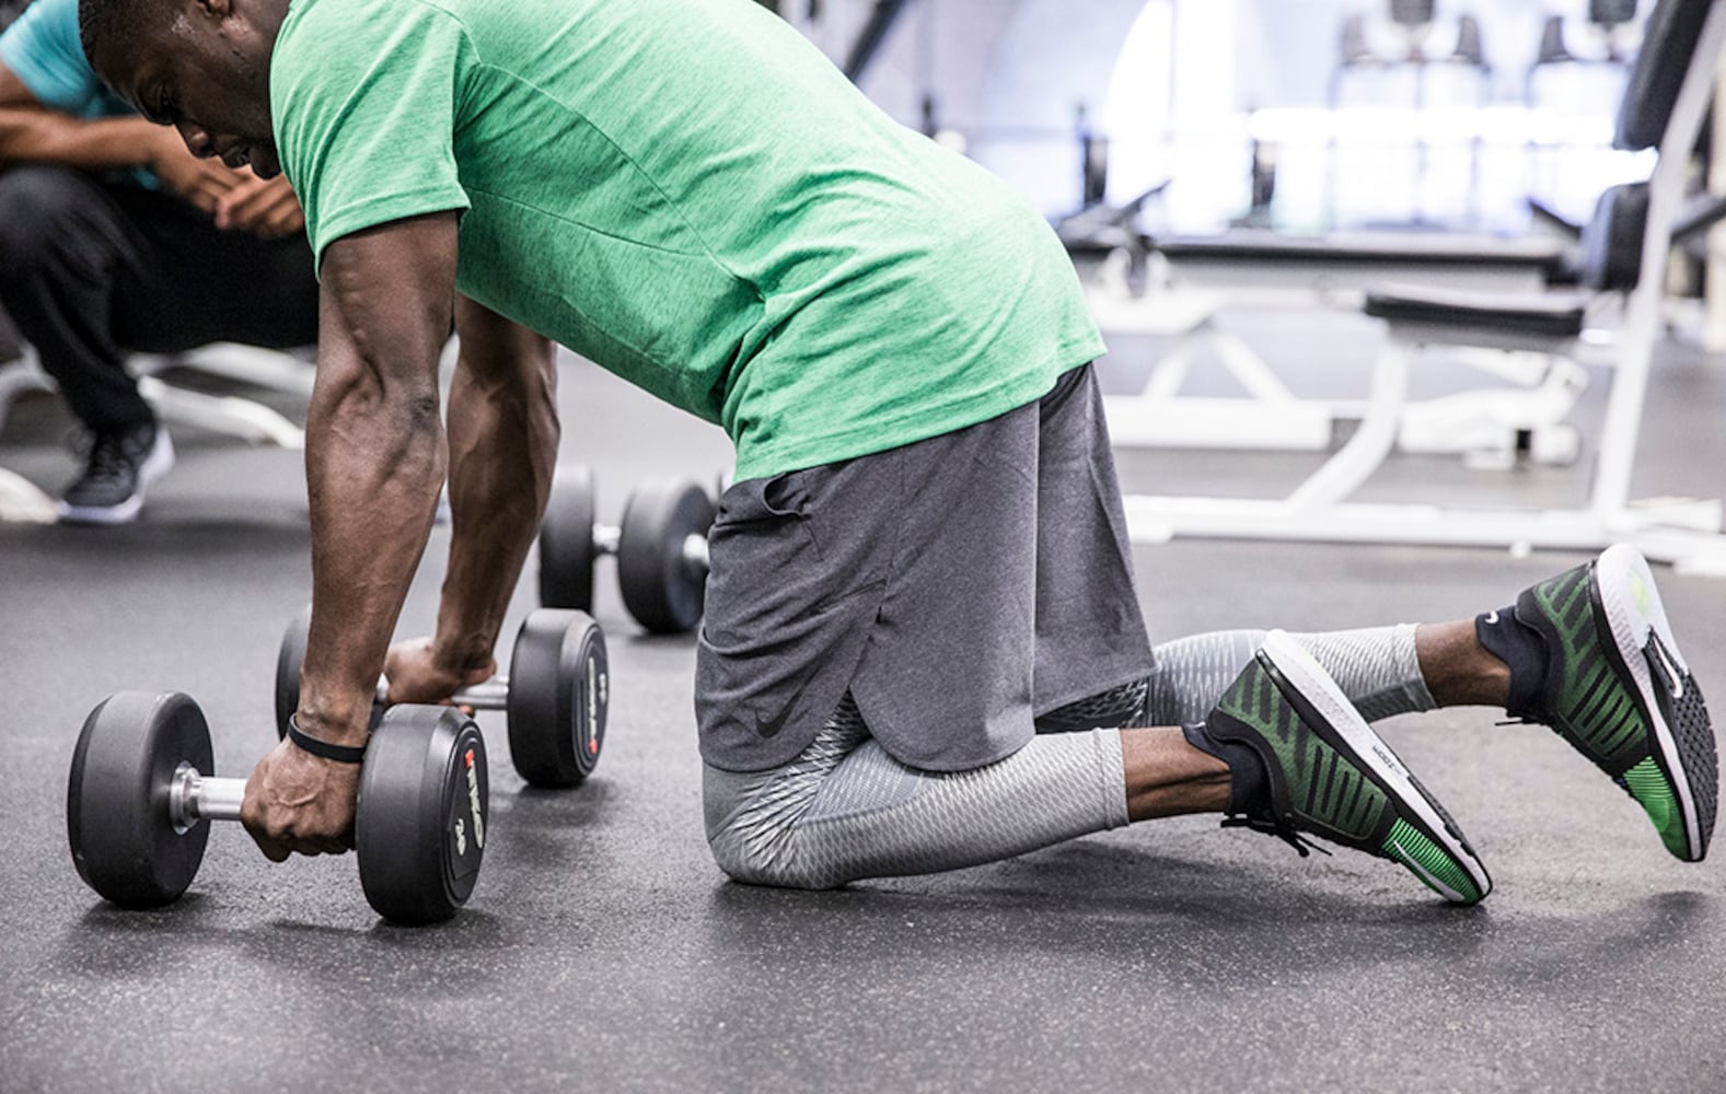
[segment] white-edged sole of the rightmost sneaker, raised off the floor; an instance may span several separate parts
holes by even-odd
[[[1654,761],[1685,818],[1685,854],[1672,852],[1700,863],[1714,830],[1719,761],[1702,690],[1678,651],[1654,573],[1640,550],[1616,544],[1595,559],[1588,592],[1597,618],[1607,621],[1612,635],[1607,659],[1636,683],[1638,707],[1654,730]],[[1660,664],[1662,676],[1671,683],[1655,682],[1652,663]],[[1640,794],[1636,797],[1641,799]]]

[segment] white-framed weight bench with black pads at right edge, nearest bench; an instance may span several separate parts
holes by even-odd
[[[1714,72],[1726,47],[1726,0],[1659,0],[1648,16],[1643,50],[1631,69],[1619,112],[1616,147],[1659,148],[1648,183],[1602,198],[1600,285],[1622,285],[1624,238],[1635,238],[1635,276],[1622,323],[1600,354],[1612,366],[1607,418],[1598,437],[1586,504],[1567,509],[1488,509],[1441,504],[1365,504],[1353,492],[1395,443],[1407,416],[1410,357],[1427,345],[1484,347],[1569,361],[1588,359],[1586,319],[1605,297],[1562,293],[1503,302],[1436,292],[1377,292],[1367,312],[1388,324],[1384,355],[1355,437],[1282,499],[1150,497],[1125,499],[1137,542],[1175,535],[1227,538],[1550,547],[1597,550],[1635,544],[1652,559],[1726,576],[1726,535],[1719,500],[1633,504],[1629,478],[1655,338],[1660,333],[1664,271],[1672,228],[1681,219],[1688,157],[1695,148]],[[1647,200],[1647,211],[1638,209]],[[1629,235],[1626,235],[1629,233]],[[1612,245],[1612,240],[1617,245]],[[1614,281],[1617,278],[1617,281]],[[1607,300],[1610,302],[1610,300]],[[1565,395],[1564,378],[1552,397]],[[1526,424],[1526,423],[1524,423]],[[1522,424],[1517,426],[1521,435]],[[1528,430],[1533,442],[1534,430]]]

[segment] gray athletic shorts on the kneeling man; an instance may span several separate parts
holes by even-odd
[[[954,433],[735,483],[708,544],[696,718],[725,771],[791,763],[846,692],[899,763],[967,771],[1153,668],[1091,366]]]

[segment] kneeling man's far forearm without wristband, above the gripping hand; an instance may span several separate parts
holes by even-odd
[[[557,459],[551,347],[516,343],[501,366],[480,364],[464,349],[450,383],[452,537],[435,644],[457,671],[492,657]]]

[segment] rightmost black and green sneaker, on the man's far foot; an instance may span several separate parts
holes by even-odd
[[[1702,861],[1719,795],[1714,726],[1641,552],[1607,547],[1524,590],[1515,618],[1545,640],[1546,682],[1510,716],[1557,730],[1641,804],[1667,851]]]

